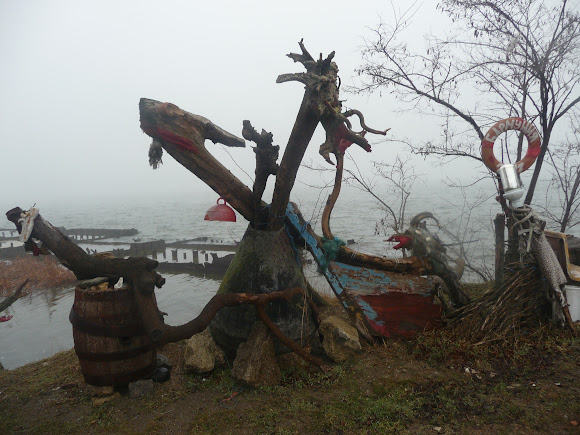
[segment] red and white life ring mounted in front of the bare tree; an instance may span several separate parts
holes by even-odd
[[[522,118],[507,118],[496,122],[487,132],[481,141],[481,158],[483,163],[493,172],[497,172],[503,166],[503,163],[495,158],[493,155],[493,144],[497,137],[505,131],[517,130],[521,131],[528,139],[528,151],[523,159],[516,162],[516,170],[518,173],[524,172],[534,164],[536,158],[540,154],[542,138],[540,133],[534,127],[534,124]]]

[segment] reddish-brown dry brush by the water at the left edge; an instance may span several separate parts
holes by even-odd
[[[30,279],[26,290],[32,288],[54,288],[73,285],[74,274],[61,266],[54,257],[27,255],[12,261],[0,262],[0,296],[8,296]],[[25,291],[26,291],[25,290]]]

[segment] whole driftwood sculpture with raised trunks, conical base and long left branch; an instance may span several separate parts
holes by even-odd
[[[212,335],[227,353],[233,355],[237,346],[247,338],[254,321],[260,319],[281,343],[312,363],[322,365],[320,360],[301,350],[308,345],[308,339],[316,328],[316,312],[304,290],[307,283],[296,246],[284,229],[290,193],[306,148],[319,123],[326,130],[326,140],[320,147],[320,153],[327,161],[330,161],[330,154],[334,154],[339,165],[347,146],[355,143],[370,151],[365,134],[385,134],[386,130],[367,127],[364,117],[357,110],[342,111],[334,52],[326,58],[320,56],[315,60],[302,41],[299,45],[301,53],[291,53],[288,57],[302,64],[306,71],[283,74],[277,79],[278,83],[296,81],[305,85],[302,104],[279,165],[276,163],[279,147],[273,145],[273,135],[264,130],[258,134],[249,121],[243,123],[242,136],[256,143],[253,189],[237,179],[205,146],[206,139],[209,139],[230,147],[244,147],[244,139],[171,103],[145,98],[139,103],[141,129],[152,138],[149,161],[153,168],[162,163],[164,151],[169,153],[249,221],[248,230],[218,294],[197,319],[178,327],[164,323],[154,290],[163,286],[165,280],[155,270],[156,261],[89,256],[42,216],[36,217],[32,238],[42,241],[43,246],[52,251],[77,278],[107,277],[109,286],[113,286],[122,277],[133,288],[146,331],[156,344],[180,340],[200,332],[213,317]],[[360,133],[352,129],[349,118],[353,115],[359,118],[362,125],[363,131]],[[270,175],[275,175],[276,181],[271,203],[266,204],[262,195]],[[19,231],[22,213],[20,208],[7,213],[8,219]],[[26,246],[34,249],[32,239]],[[386,259],[355,253],[345,247],[340,249],[339,255],[344,262],[381,270],[423,274],[433,269],[428,260],[416,257]],[[255,310],[249,305],[253,305]]]

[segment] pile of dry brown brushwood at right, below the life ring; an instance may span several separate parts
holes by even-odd
[[[450,329],[472,343],[509,339],[550,315],[544,280],[534,264],[508,267],[503,284],[452,312]]]

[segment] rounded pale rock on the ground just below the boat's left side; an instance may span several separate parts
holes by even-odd
[[[334,362],[343,362],[361,350],[358,331],[345,320],[330,316],[320,323],[322,347]]]

